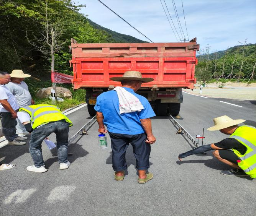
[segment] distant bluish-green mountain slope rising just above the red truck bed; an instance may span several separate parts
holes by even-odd
[[[107,29],[103,26],[100,26],[97,23],[94,23],[92,20],[88,19],[89,24],[98,30],[103,30],[108,33],[113,39],[113,43],[148,43],[147,41],[142,41],[136,37],[126,35],[126,34],[120,34],[116,31],[112,31],[110,29]]]

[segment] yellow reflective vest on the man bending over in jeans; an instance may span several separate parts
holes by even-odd
[[[23,110],[30,114],[31,123],[33,123],[33,129],[40,125],[44,125],[49,122],[56,122],[62,119],[69,123],[69,127],[73,125],[71,120],[69,120],[66,115],[62,114],[62,112],[59,110],[59,107],[54,105],[38,104],[21,107],[19,110]]]

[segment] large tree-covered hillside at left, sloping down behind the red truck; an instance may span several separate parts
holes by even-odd
[[[80,43],[143,42],[103,28],[79,13],[70,0],[0,1],[0,70],[22,69],[33,77],[49,80],[51,46],[54,70],[72,74],[71,38]]]

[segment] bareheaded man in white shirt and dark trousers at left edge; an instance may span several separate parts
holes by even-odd
[[[11,81],[11,76],[7,72],[0,71],[0,118],[2,123],[2,133],[8,140],[8,145],[25,145],[26,137],[18,137],[16,134],[16,118],[19,106],[13,94],[10,93],[5,84]],[[15,165],[0,163],[0,170],[10,169]]]

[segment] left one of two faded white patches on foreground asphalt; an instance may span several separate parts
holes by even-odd
[[[10,204],[12,201],[15,203],[24,203],[32,193],[36,192],[36,188],[30,188],[28,190],[16,190],[11,193],[3,202],[5,204]]]

